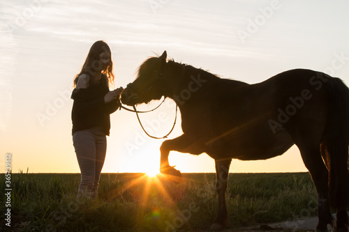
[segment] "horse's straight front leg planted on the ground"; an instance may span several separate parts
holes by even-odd
[[[232,159],[215,160],[216,162],[216,190],[218,194],[218,213],[210,230],[220,231],[228,227],[228,212],[225,204],[225,190],[228,185],[229,167]]]

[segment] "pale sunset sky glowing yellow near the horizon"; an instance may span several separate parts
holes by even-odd
[[[149,56],[250,84],[309,68],[349,84],[349,2],[285,0],[14,0],[0,3],[0,172],[80,172],[71,137],[73,76],[96,40],[112,49],[115,86],[133,82]],[[151,109],[158,102],[140,109]],[[170,130],[167,100],[142,114],[149,132]],[[158,169],[161,140],[142,132],[135,114],[111,115],[103,172]],[[180,118],[169,139],[181,134]],[[182,172],[214,172],[214,160],[171,152]],[[230,172],[306,171],[297,147],[266,161],[233,160]]]

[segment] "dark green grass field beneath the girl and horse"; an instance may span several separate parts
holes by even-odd
[[[175,184],[163,176],[103,173],[99,199],[77,201],[80,174],[13,173],[11,231],[208,229],[218,207],[215,174],[183,177]],[[4,204],[6,196],[0,198]],[[232,228],[317,215],[309,173],[230,173],[226,199]]]

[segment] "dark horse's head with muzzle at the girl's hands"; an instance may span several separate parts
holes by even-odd
[[[163,96],[163,69],[166,65],[166,51],[159,57],[151,57],[138,68],[138,76],[121,93],[121,102],[125,105],[138,105]]]

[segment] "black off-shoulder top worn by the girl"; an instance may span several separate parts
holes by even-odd
[[[72,133],[77,130],[99,126],[106,135],[110,133],[110,114],[120,107],[119,100],[105,103],[104,96],[109,92],[107,79],[89,88],[75,88],[71,95],[74,100],[71,111]]]

